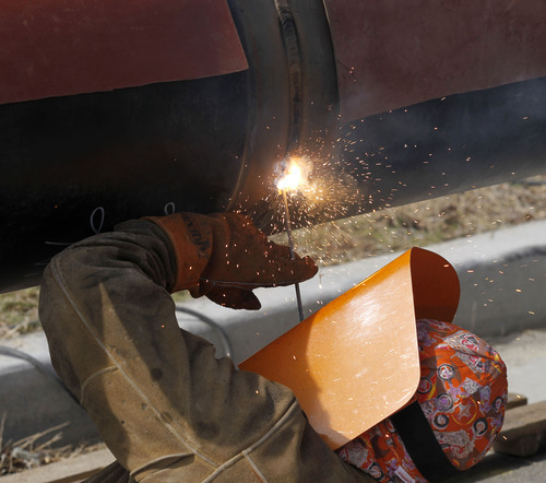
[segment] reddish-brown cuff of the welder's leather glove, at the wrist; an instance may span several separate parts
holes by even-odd
[[[145,216],[168,236],[176,258],[176,281],[171,292],[199,285],[199,278],[212,251],[212,227],[206,216],[176,213],[168,216]]]

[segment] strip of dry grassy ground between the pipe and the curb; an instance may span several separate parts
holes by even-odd
[[[297,229],[294,240],[299,254],[327,266],[544,219],[539,176]],[[284,234],[273,239],[286,244]],[[0,295],[0,339],[40,330],[38,296],[36,287]]]

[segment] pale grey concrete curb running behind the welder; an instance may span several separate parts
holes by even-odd
[[[546,222],[427,249],[450,261],[460,276],[461,303],[455,323],[486,338],[546,327]],[[318,276],[301,284],[306,315],[397,255],[321,269]],[[179,313],[180,325],[210,339],[218,353],[229,352],[239,363],[298,322],[294,287],[259,290],[257,295],[263,306],[258,313],[229,310],[204,299],[189,301],[183,307],[192,314]],[[3,440],[14,441],[67,421],[70,425],[63,429],[61,444],[97,440],[85,412],[51,377],[44,334],[34,333],[2,344],[33,356],[50,375],[45,376],[44,370],[27,361],[0,355],[0,408],[7,413]]]

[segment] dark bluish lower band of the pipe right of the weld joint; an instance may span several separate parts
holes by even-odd
[[[546,173],[546,78],[444,97],[345,126],[352,213]]]

